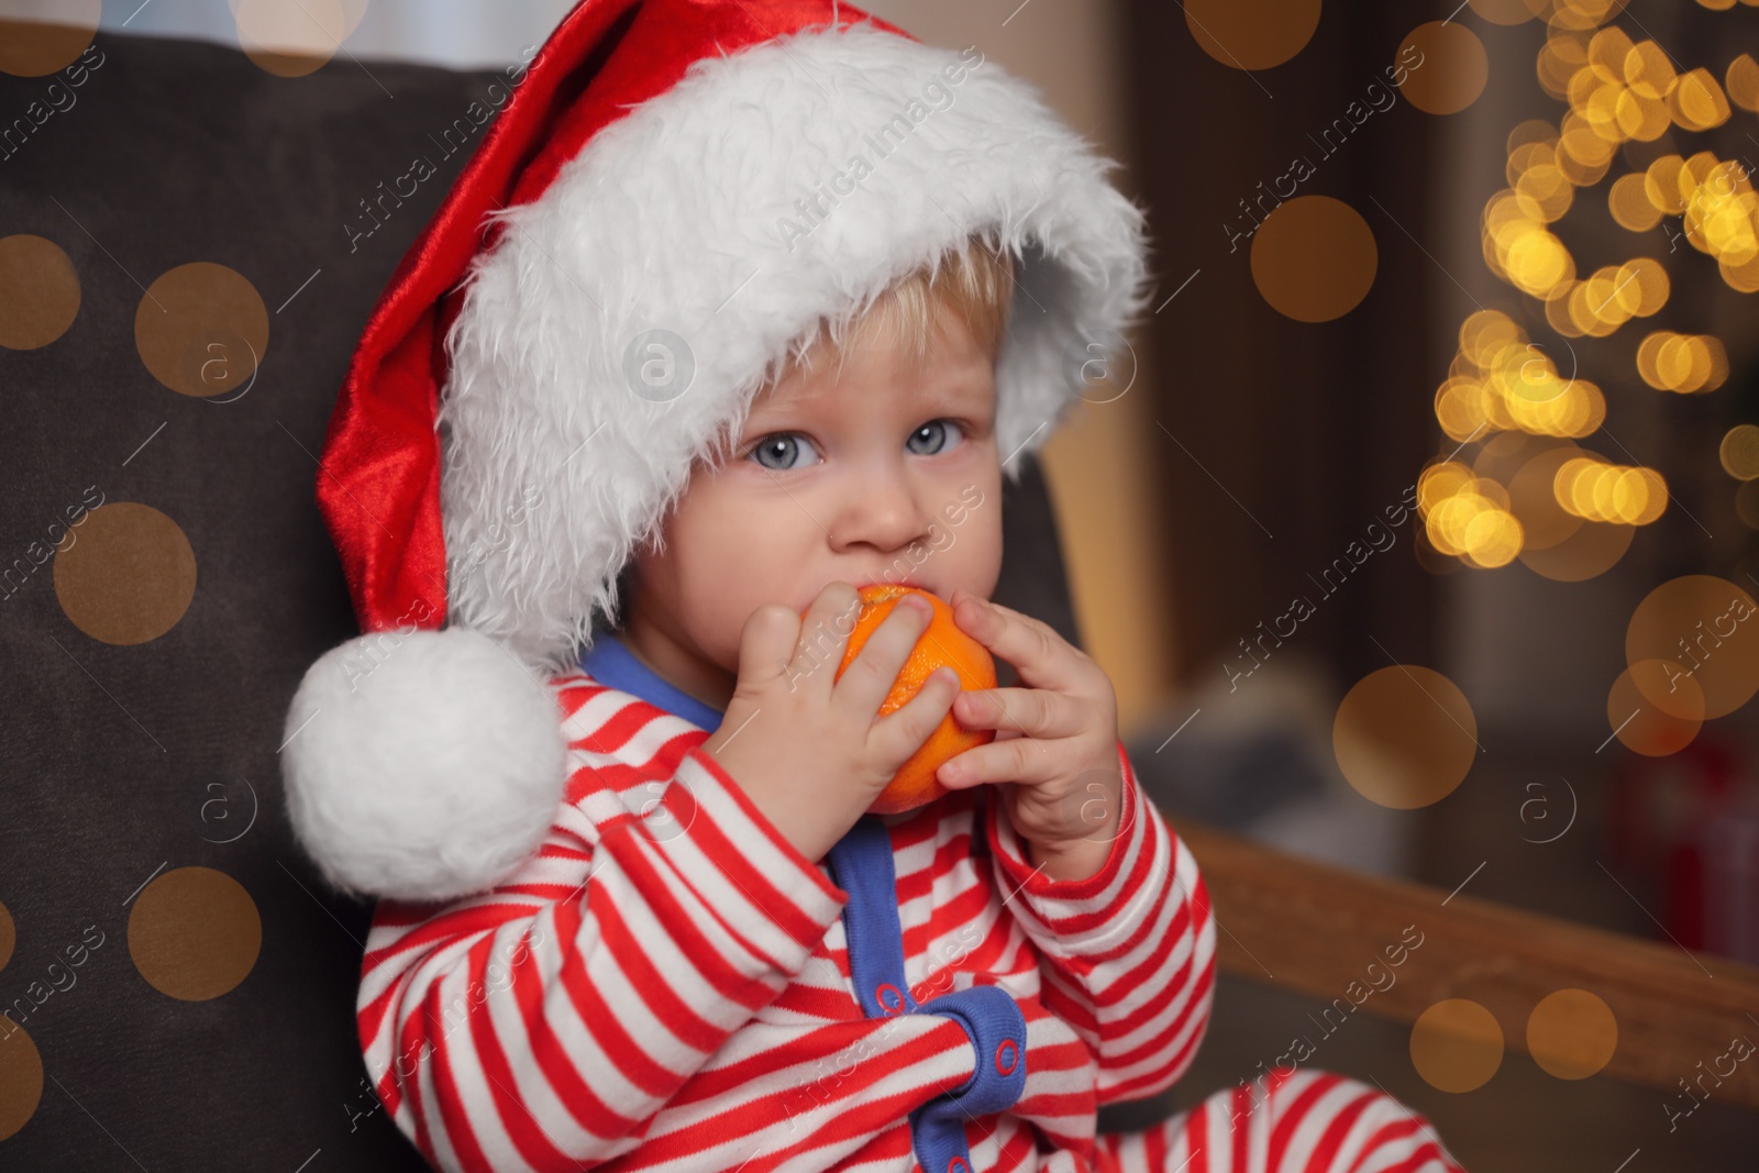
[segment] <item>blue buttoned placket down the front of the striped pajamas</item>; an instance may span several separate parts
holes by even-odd
[[[976,1071],[911,1111],[909,1134],[923,1173],[973,1173],[964,1124],[1018,1103],[1025,1090],[1025,1016],[996,985],[941,994],[922,1004],[909,995],[892,835],[878,816],[864,814],[825,858],[837,886],[850,893],[843,930],[862,1011],[869,1018],[945,1015],[971,1039]]]

